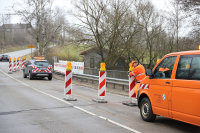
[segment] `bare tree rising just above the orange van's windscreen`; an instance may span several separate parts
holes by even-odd
[[[163,19],[155,12],[153,5],[148,1],[141,3],[141,23],[143,25],[143,44],[145,44],[145,55],[148,58],[149,67],[159,56],[159,49],[163,47],[162,28]]]

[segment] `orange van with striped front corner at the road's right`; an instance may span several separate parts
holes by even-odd
[[[200,126],[200,51],[170,53],[152,69],[138,90],[145,121],[156,115]]]

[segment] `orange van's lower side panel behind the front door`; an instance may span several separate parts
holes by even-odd
[[[175,119],[196,123],[200,126],[200,81],[174,80],[172,115]]]

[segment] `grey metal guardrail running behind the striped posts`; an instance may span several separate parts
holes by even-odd
[[[54,73],[64,76],[64,74],[60,72],[54,71]],[[91,80],[91,81],[99,81],[99,76],[89,75],[89,74],[73,74],[73,77],[78,78],[78,79],[83,79],[83,80],[85,79],[85,80]],[[124,90],[125,87],[129,86],[129,80],[126,80],[126,79],[106,77],[106,83],[112,84],[113,88],[116,88],[117,85],[118,86],[120,85],[122,86],[122,90]]]

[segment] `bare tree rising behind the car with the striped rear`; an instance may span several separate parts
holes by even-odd
[[[60,28],[60,25],[53,25],[55,14],[52,2],[52,0],[24,0],[24,6],[15,10],[25,22],[32,25],[32,35],[36,41],[38,55],[45,54],[47,46]]]

